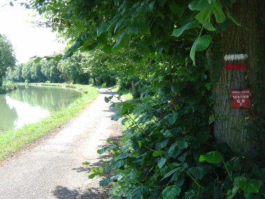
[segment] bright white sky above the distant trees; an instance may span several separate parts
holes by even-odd
[[[6,35],[13,45],[17,63],[63,50],[66,44],[56,41],[56,33],[31,23],[34,20],[31,16],[35,14],[33,10],[20,6],[22,1],[13,1],[14,6],[10,6],[10,1],[0,0],[0,34]]]

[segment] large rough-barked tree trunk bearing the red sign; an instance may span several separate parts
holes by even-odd
[[[225,65],[225,54],[248,54],[244,64],[246,71],[226,71],[222,69],[218,82],[215,84],[215,115],[214,135],[217,142],[226,142],[234,151],[241,154],[257,152],[257,136],[255,122],[259,118],[257,111],[257,71],[260,66],[258,46],[261,42],[259,13],[264,8],[262,0],[237,1],[233,13],[241,22],[241,27],[229,24],[221,34],[222,64]],[[232,89],[250,89],[251,109],[232,109],[229,91]]]

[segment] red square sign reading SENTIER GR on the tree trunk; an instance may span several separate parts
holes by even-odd
[[[231,90],[231,106],[234,109],[251,108],[250,90]]]

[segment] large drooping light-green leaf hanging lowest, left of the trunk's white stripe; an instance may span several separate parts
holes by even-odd
[[[209,35],[199,36],[195,40],[190,50],[190,58],[192,59],[194,65],[195,65],[195,53],[200,52],[202,50],[206,50],[206,48],[209,47],[210,43],[211,43],[211,36]]]

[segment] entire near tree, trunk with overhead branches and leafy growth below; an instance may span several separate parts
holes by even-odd
[[[26,6],[70,39],[64,58],[94,50],[94,67],[117,66],[139,89],[112,118],[127,126],[121,142],[98,151],[113,155],[103,165],[114,175],[100,182],[114,182],[113,198],[265,197],[263,1],[32,0]],[[225,54],[241,52],[252,55],[249,70],[225,71]],[[245,87],[253,91],[252,108],[232,110],[230,89]]]

